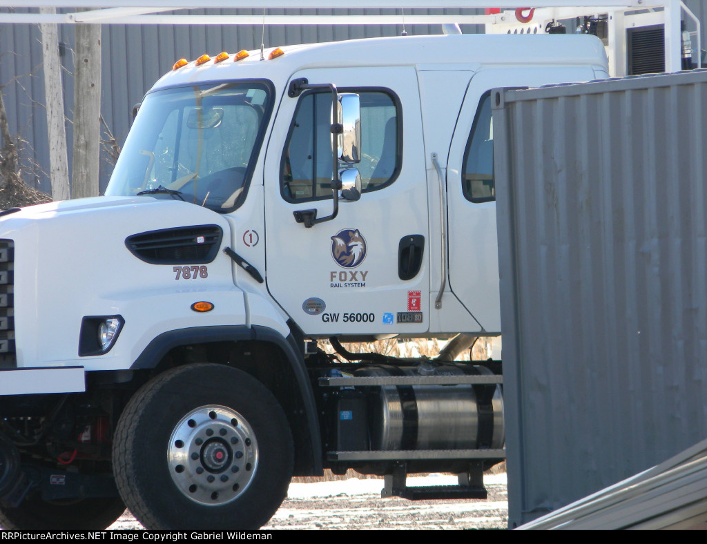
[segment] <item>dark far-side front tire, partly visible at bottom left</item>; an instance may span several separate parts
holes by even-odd
[[[0,507],[0,527],[17,531],[101,531],[125,512],[120,497],[44,501],[25,499],[17,508]]]

